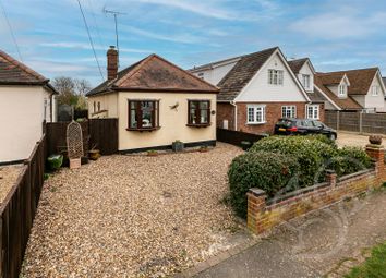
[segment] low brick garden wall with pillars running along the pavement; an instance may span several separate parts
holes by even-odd
[[[370,189],[379,188],[386,178],[384,148],[367,146],[367,154],[375,159],[374,169],[341,177],[327,173],[327,182],[291,192],[277,200],[266,201],[260,189],[248,193],[248,227],[254,233],[270,228],[309,211],[323,208],[347,197],[355,196]]]

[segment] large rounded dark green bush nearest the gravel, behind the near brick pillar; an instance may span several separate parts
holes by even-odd
[[[249,152],[236,157],[228,171],[230,204],[236,214],[246,217],[245,194],[249,189],[262,189],[268,197],[282,190],[291,191],[290,180],[297,177],[299,170],[294,158],[277,153]],[[297,185],[297,182],[293,184]]]

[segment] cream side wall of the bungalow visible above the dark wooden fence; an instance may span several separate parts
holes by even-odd
[[[100,102],[100,110],[107,110],[105,114],[93,116],[94,101],[96,102],[96,109],[98,109],[98,102]],[[91,96],[87,98],[88,118],[118,118],[118,93],[105,94],[98,96]]]

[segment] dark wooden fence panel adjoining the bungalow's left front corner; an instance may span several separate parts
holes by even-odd
[[[89,147],[101,155],[118,153],[118,119],[93,119],[89,123]]]

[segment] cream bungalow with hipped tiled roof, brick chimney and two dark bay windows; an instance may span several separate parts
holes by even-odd
[[[118,72],[107,52],[108,80],[86,94],[89,118],[118,118],[119,150],[131,153],[216,144],[219,89],[157,55]]]

